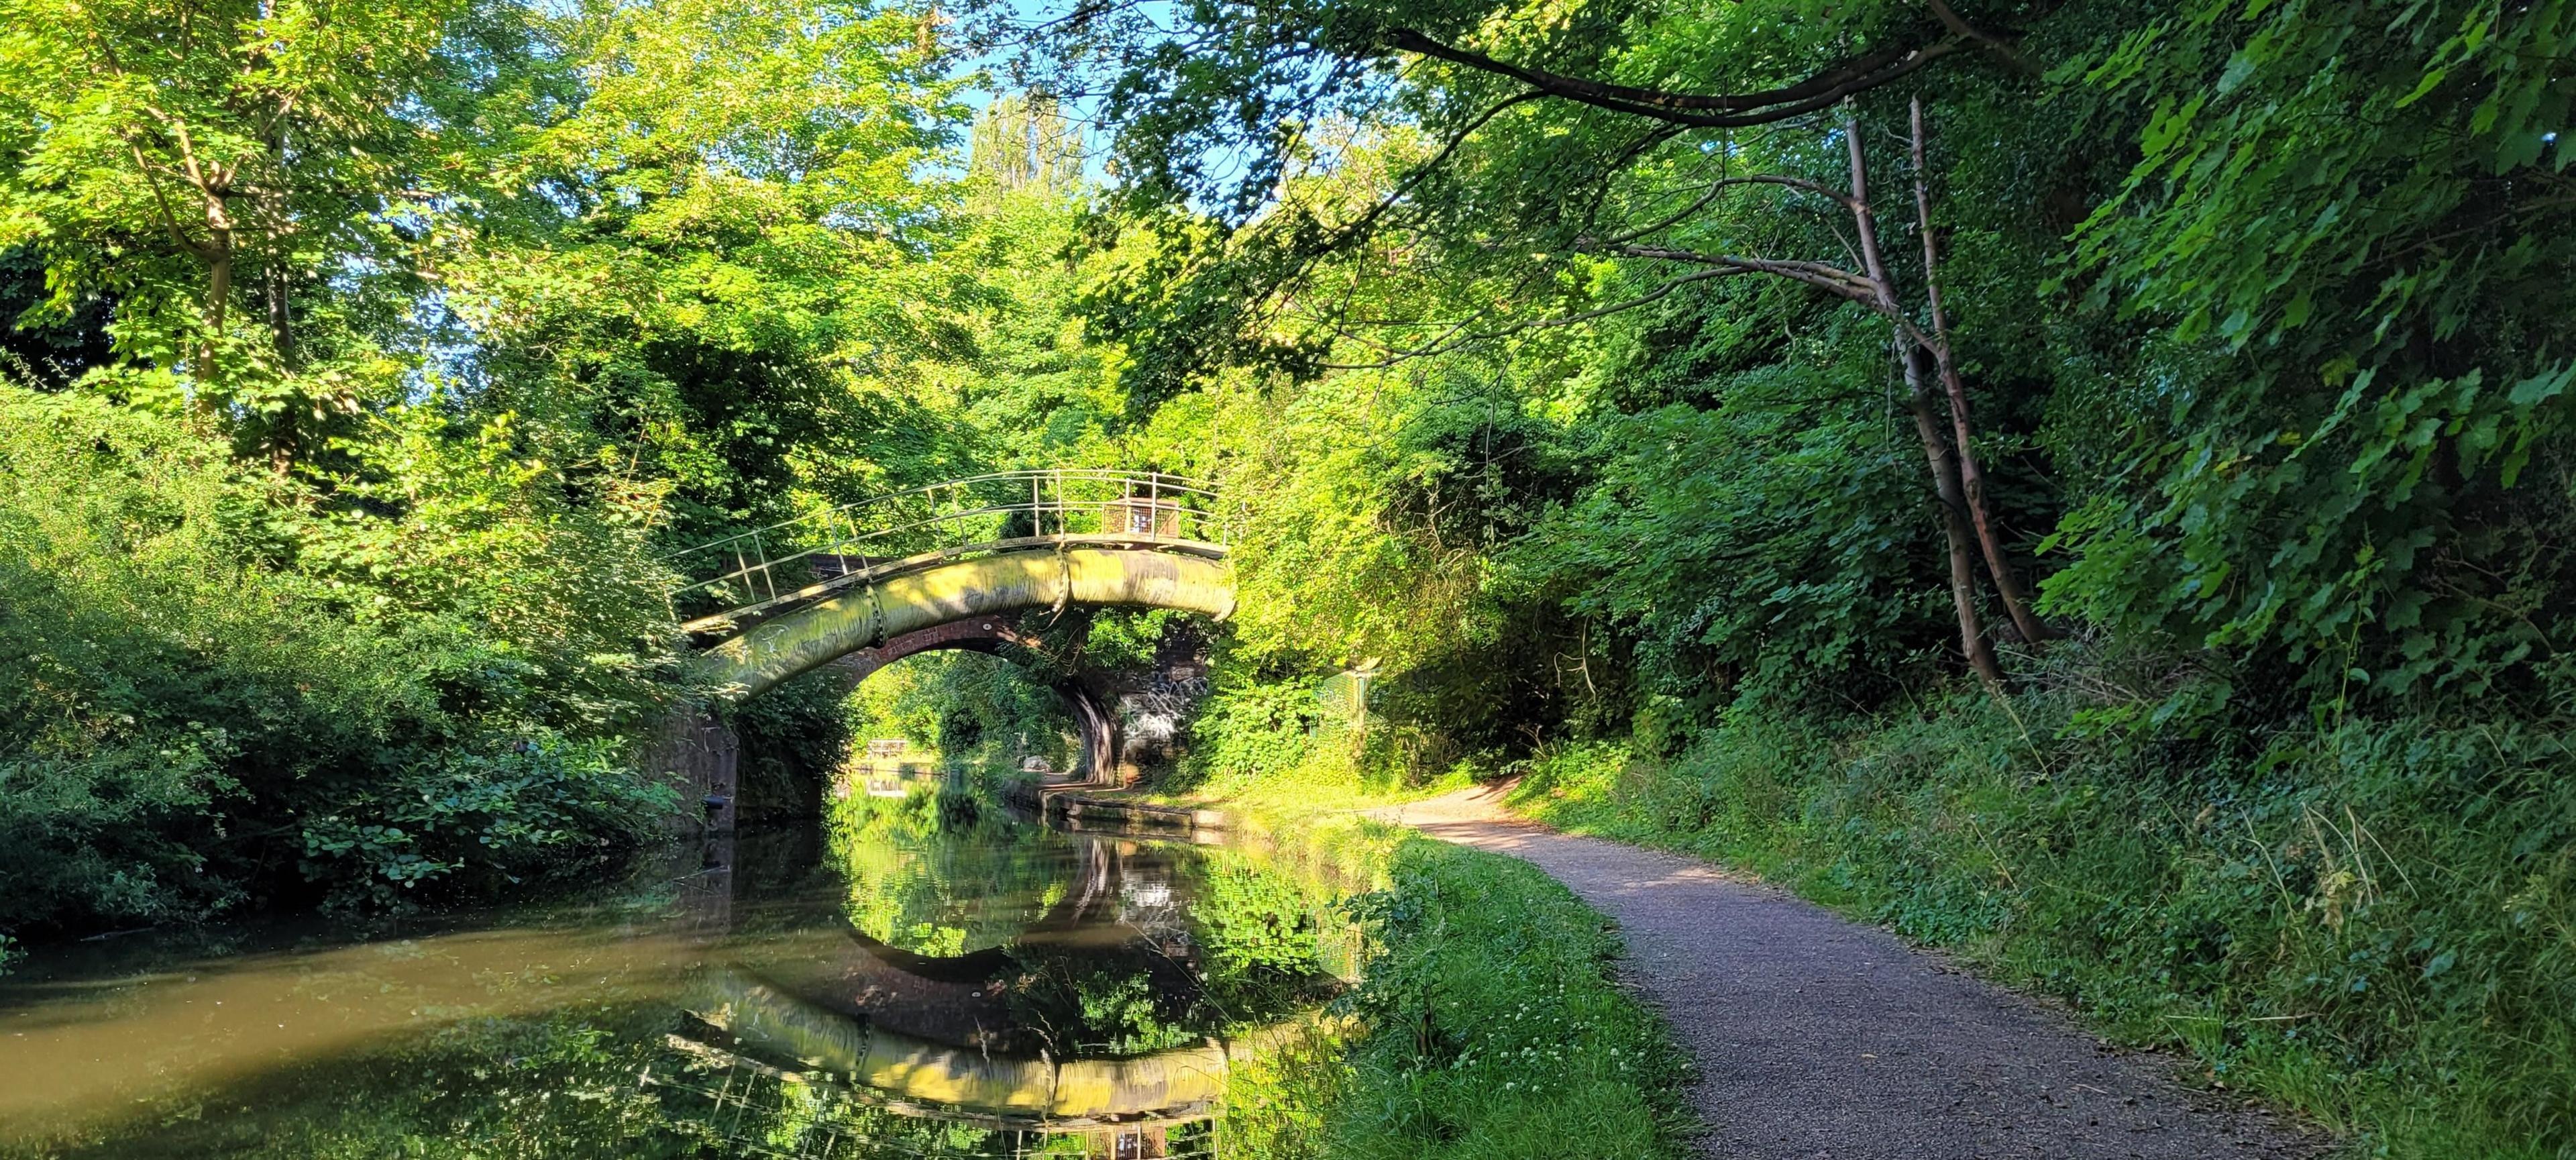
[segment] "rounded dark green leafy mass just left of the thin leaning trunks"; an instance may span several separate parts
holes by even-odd
[[[1798,374],[1777,387],[1795,392]],[[1747,384],[1749,387],[1749,384]],[[1945,608],[1922,598],[1919,464],[1875,400],[1728,400],[1605,420],[1592,487],[1504,554],[1507,575],[1636,639],[1651,693],[1837,691],[1914,668]],[[1857,412],[1855,412],[1857,410]]]

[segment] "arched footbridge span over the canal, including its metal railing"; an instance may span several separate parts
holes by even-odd
[[[1234,614],[1208,485],[1051,469],[951,479],[677,552],[672,614],[706,642],[690,675],[760,696],[845,655],[969,647],[953,626],[1023,608]],[[943,632],[945,629],[945,632]],[[873,668],[873,665],[871,665]]]

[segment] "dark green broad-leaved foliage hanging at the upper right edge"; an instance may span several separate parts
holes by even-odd
[[[2069,101],[2154,111],[2074,260],[2089,307],[2164,322],[2179,382],[2128,402],[2154,423],[2138,487],[2058,531],[2053,595],[2282,650],[2336,701],[2561,696],[2571,15],[2236,8],[2056,72]]]

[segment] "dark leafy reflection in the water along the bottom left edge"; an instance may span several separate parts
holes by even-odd
[[[312,1059],[193,1111],[41,1147],[0,1145],[0,1157],[1002,1160],[1108,1155],[1118,1134],[922,1116],[840,1083],[708,1057],[672,1041],[670,1026],[667,1005],[466,1021]],[[1211,1155],[1206,1124],[1151,1134],[1167,1150],[1141,1155]]]

